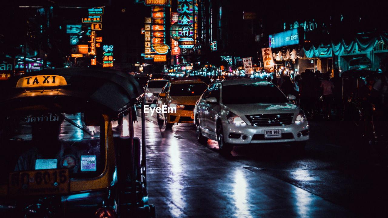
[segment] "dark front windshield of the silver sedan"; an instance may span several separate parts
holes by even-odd
[[[289,102],[274,85],[239,84],[222,87],[222,104]]]

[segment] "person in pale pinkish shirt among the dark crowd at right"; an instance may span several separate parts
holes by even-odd
[[[324,74],[320,87],[322,88],[322,103],[323,103],[324,118],[330,119],[331,118],[331,105],[333,104],[334,85],[330,81],[329,72]]]

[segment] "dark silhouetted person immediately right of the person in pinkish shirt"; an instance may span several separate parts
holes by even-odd
[[[338,68],[333,71],[333,78],[331,82],[334,85],[333,90],[333,106],[336,111],[336,119],[342,120],[343,115],[343,100],[342,100],[342,78],[340,77],[340,70]]]

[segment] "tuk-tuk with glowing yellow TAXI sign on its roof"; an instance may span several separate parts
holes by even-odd
[[[155,217],[143,111],[142,143],[133,131],[144,90],[133,76],[44,69],[0,89],[1,217]],[[112,128],[124,112],[126,135]]]

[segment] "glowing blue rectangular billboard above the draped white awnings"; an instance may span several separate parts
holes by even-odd
[[[271,48],[278,48],[288,45],[296,45],[300,43],[299,36],[301,34],[299,33],[298,29],[290,29],[281,33],[275,33],[268,36],[269,40],[269,47]],[[303,35],[302,36],[302,42],[303,42]]]

